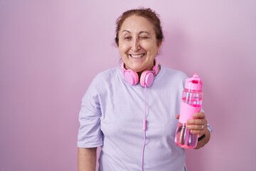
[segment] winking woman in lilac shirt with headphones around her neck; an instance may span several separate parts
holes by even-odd
[[[185,151],[174,142],[186,75],[157,62],[163,33],[151,9],[125,11],[117,19],[122,64],[99,73],[82,98],[78,168],[95,171],[186,170]],[[191,133],[210,140],[205,113],[188,120]],[[203,130],[202,130],[203,128]]]

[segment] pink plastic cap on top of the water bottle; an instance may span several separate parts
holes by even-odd
[[[194,73],[192,78],[186,79],[185,88],[188,90],[202,90],[203,82],[201,78]]]

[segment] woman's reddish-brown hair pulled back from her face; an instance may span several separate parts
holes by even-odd
[[[156,33],[156,39],[158,45],[161,44],[161,42],[164,39],[164,35],[161,29],[161,21],[159,19],[159,14],[156,14],[155,11],[151,9],[131,9],[128,11],[125,11],[122,16],[119,16],[119,18],[116,21],[116,38],[115,42],[117,43],[117,46],[119,46],[119,37],[118,37],[118,32],[120,31],[120,28],[122,24],[124,23],[124,20],[127,19],[129,16],[142,16],[145,19],[147,19],[151,24],[154,25],[154,31]]]

